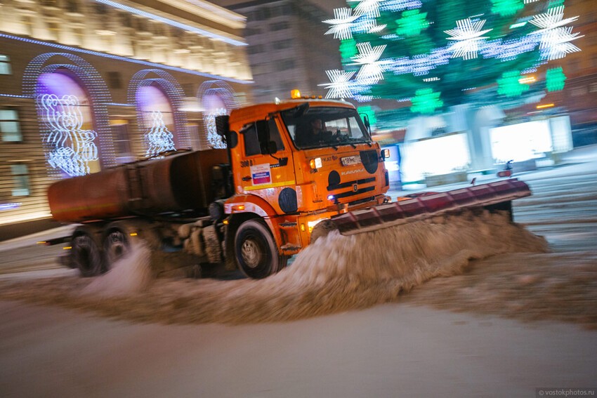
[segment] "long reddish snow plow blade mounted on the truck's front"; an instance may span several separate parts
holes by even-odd
[[[530,194],[527,184],[512,178],[459,190],[422,194],[412,199],[336,215],[332,220],[341,234],[350,235],[411,223],[464,208],[509,211],[512,219],[511,201]]]

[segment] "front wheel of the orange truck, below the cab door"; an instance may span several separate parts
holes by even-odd
[[[262,279],[286,266],[267,225],[260,220],[242,223],[236,232],[235,256],[240,270],[249,278]]]

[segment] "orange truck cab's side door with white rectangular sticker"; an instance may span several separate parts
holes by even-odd
[[[276,119],[245,125],[240,135],[244,144],[240,181],[243,190],[262,197],[284,213],[296,211],[292,209],[292,198],[289,206],[285,205],[286,200],[280,200],[289,194],[282,192],[284,188],[291,187],[294,193],[296,179],[290,146],[282,139]]]

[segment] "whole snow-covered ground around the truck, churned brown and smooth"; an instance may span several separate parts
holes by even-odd
[[[332,237],[265,281],[148,281],[99,296],[114,277],[6,274],[0,391],[532,397],[536,387],[593,387],[597,335],[586,329],[597,325],[597,156],[595,148],[572,155],[574,164],[518,175],[534,195],[516,201],[515,218],[548,252],[499,219],[459,218],[386,234],[402,244],[391,256],[356,249],[390,247],[381,236]],[[11,244],[4,255],[24,249]],[[139,253],[133,264],[143,263]],[[214,321],[235,326],[205,324]]]

